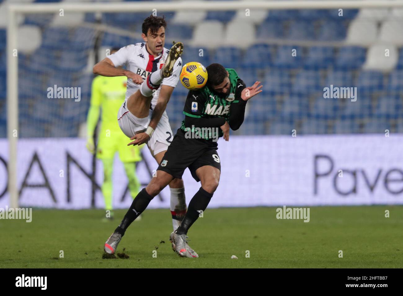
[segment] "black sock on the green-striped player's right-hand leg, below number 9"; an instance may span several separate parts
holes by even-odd
[[[200,210],[205,211],[210,199],[213,197],[212,193],[208,193],[202,187],[195,194],[187,207],[187,213],[183,218],[181,225],[176,230],[177,234],[187,234],[187,231],[192,224],[197,220],[200,214]]]

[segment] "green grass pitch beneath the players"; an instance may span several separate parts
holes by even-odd
[[[390,217],[385,217],[385,210]],[[168,209],[150,209],[127,230],[117,252],[103,245],[126,210],[33,209],[32,222],[0,220],[2,268],[402,268],[403,206],[310,207],[310,222],[276,219],[276,207],[207,209],[191,230],[199,258],[170,246]],[[165,243],[161,241],[164,240]],[[158,249],[156,249],[158,247]],[[60,258],[60,250],[64,258]],[[153,251],[156,250],[153,257]],[[249,251],[249,258],[246,251]],[[339,258],[339,250],[343,258]],[[155,252],[154,252],[155,254]],[[231,259],[236,255],[239,259]]]

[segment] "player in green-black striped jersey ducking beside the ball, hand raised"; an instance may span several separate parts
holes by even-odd
[[[134,199],[122,222],[106,242],[106,252],[116,250],[137,213],[143,212],[173,178],[182,178],[185,169],[189,168],[193,178],[202,186],[191,199],[181,225],[171,233],[170,241],[181,257],[198,257],[187,244],[187,232],[199,214],[206,210],[218,187],[221,164],[216,140],[223,137],[229,141],[229,128],[237,130],[241,126],[247,101],[262,91],[260,81],[246,87],[233,69],[226,69],[220,64],[211,64],[206,69],[206,86],[189,91],[183,110],[185,119],[162,158],[156,177]]]

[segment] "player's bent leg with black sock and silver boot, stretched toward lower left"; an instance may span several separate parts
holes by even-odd
[[[123,217],[122,222],[120,222],[114,233],[106,241],[104,245],[106,253],[115,253],[120,240],[125,235],[130,224],[147,208],[150,201],[158,195],[173,178],[174,177],[167,172],[157,171],[156,176],[151,179],[147,187],[143,188],[135,197],[125,217]]]

